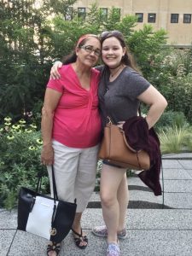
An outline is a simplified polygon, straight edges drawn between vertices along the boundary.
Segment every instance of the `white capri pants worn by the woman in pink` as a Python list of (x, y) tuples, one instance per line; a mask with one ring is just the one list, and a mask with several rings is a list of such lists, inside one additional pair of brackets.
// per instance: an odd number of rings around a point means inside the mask
[[(96, 184), (96, 163), (99, 145), (91, 148), (69, 148), (53, 140), (54, 173), (60, 200), (74, 202), (76, 212), (83, 212)], [(51, 166), (47, 166), (53, 196)]]

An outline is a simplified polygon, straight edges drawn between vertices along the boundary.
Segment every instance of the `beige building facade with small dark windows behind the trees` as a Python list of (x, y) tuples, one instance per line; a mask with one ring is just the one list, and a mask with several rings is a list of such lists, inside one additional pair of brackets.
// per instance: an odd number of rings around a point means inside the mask
[(177, 47), (188, 47), (192, 44), (192, 0), (78, 0), (73, 8), (81, 16), (86, 15), (93, 3), (108, 15), (108, 9), (119, 9), (121, 17), (137, 15), (137, 26), (143, 24), (154, 26), (154, 30), (164, 28), (167, 32), (167, 44)]

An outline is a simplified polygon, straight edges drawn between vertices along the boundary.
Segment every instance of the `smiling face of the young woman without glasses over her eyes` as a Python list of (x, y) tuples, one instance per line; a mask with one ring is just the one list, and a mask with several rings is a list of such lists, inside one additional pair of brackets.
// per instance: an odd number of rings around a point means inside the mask
[(109, 68), (118, 67), (125, 55), (126, 48), (122, 47), (119, 40), (115, 37), (106, 38), (102, 42), (102, 61)]

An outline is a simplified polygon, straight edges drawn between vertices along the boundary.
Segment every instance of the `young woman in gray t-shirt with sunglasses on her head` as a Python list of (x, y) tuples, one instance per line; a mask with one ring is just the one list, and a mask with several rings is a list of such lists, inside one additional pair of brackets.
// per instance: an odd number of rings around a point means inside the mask
[[(99, 101), (102, 127), (108, 116), (114, 124), (123, 125), (125, 120), (137, 116), (140, 102), (149, 106), (146, 121), (148, 129), (154, 126), (166, 108), (164, 96), (137, 72), (125, 45), (122, 33), (118, 31), (102, 33), (102, 61)], [(61, 64), (59, 64), (61, 67)], [(52, 67), (51, 74), (58, 73)], [(103, 160), (100, 196), (102, 214), (106, 226), (92, 230), (96, 236), (108, 237), (107, 256), (119, 256), (119, 239), (125, 239), (125, 216), (129, 201), (126, 169), (112, 166)]]

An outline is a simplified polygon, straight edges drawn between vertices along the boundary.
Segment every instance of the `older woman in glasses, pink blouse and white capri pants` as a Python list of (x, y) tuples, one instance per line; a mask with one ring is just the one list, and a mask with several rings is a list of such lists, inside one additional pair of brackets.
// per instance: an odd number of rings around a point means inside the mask
[[(59, 199), (77, 199), (73, 236), (81, 249), (87, 246), (88, 238), (80, 219), (95, 188), (102, 129), (97, 96), (100, 74), (92, 68), (100, 53), (101, 43), (96, 35), (79, 38), (73, 54), (60, 69), (60, 79), (49, 79), (42, 109), (41, 161), (47, 166), (50, 179), (54, 165)], [(59, 252), (60, 243), (50, 242), (47, 254), (55, 256)]]

